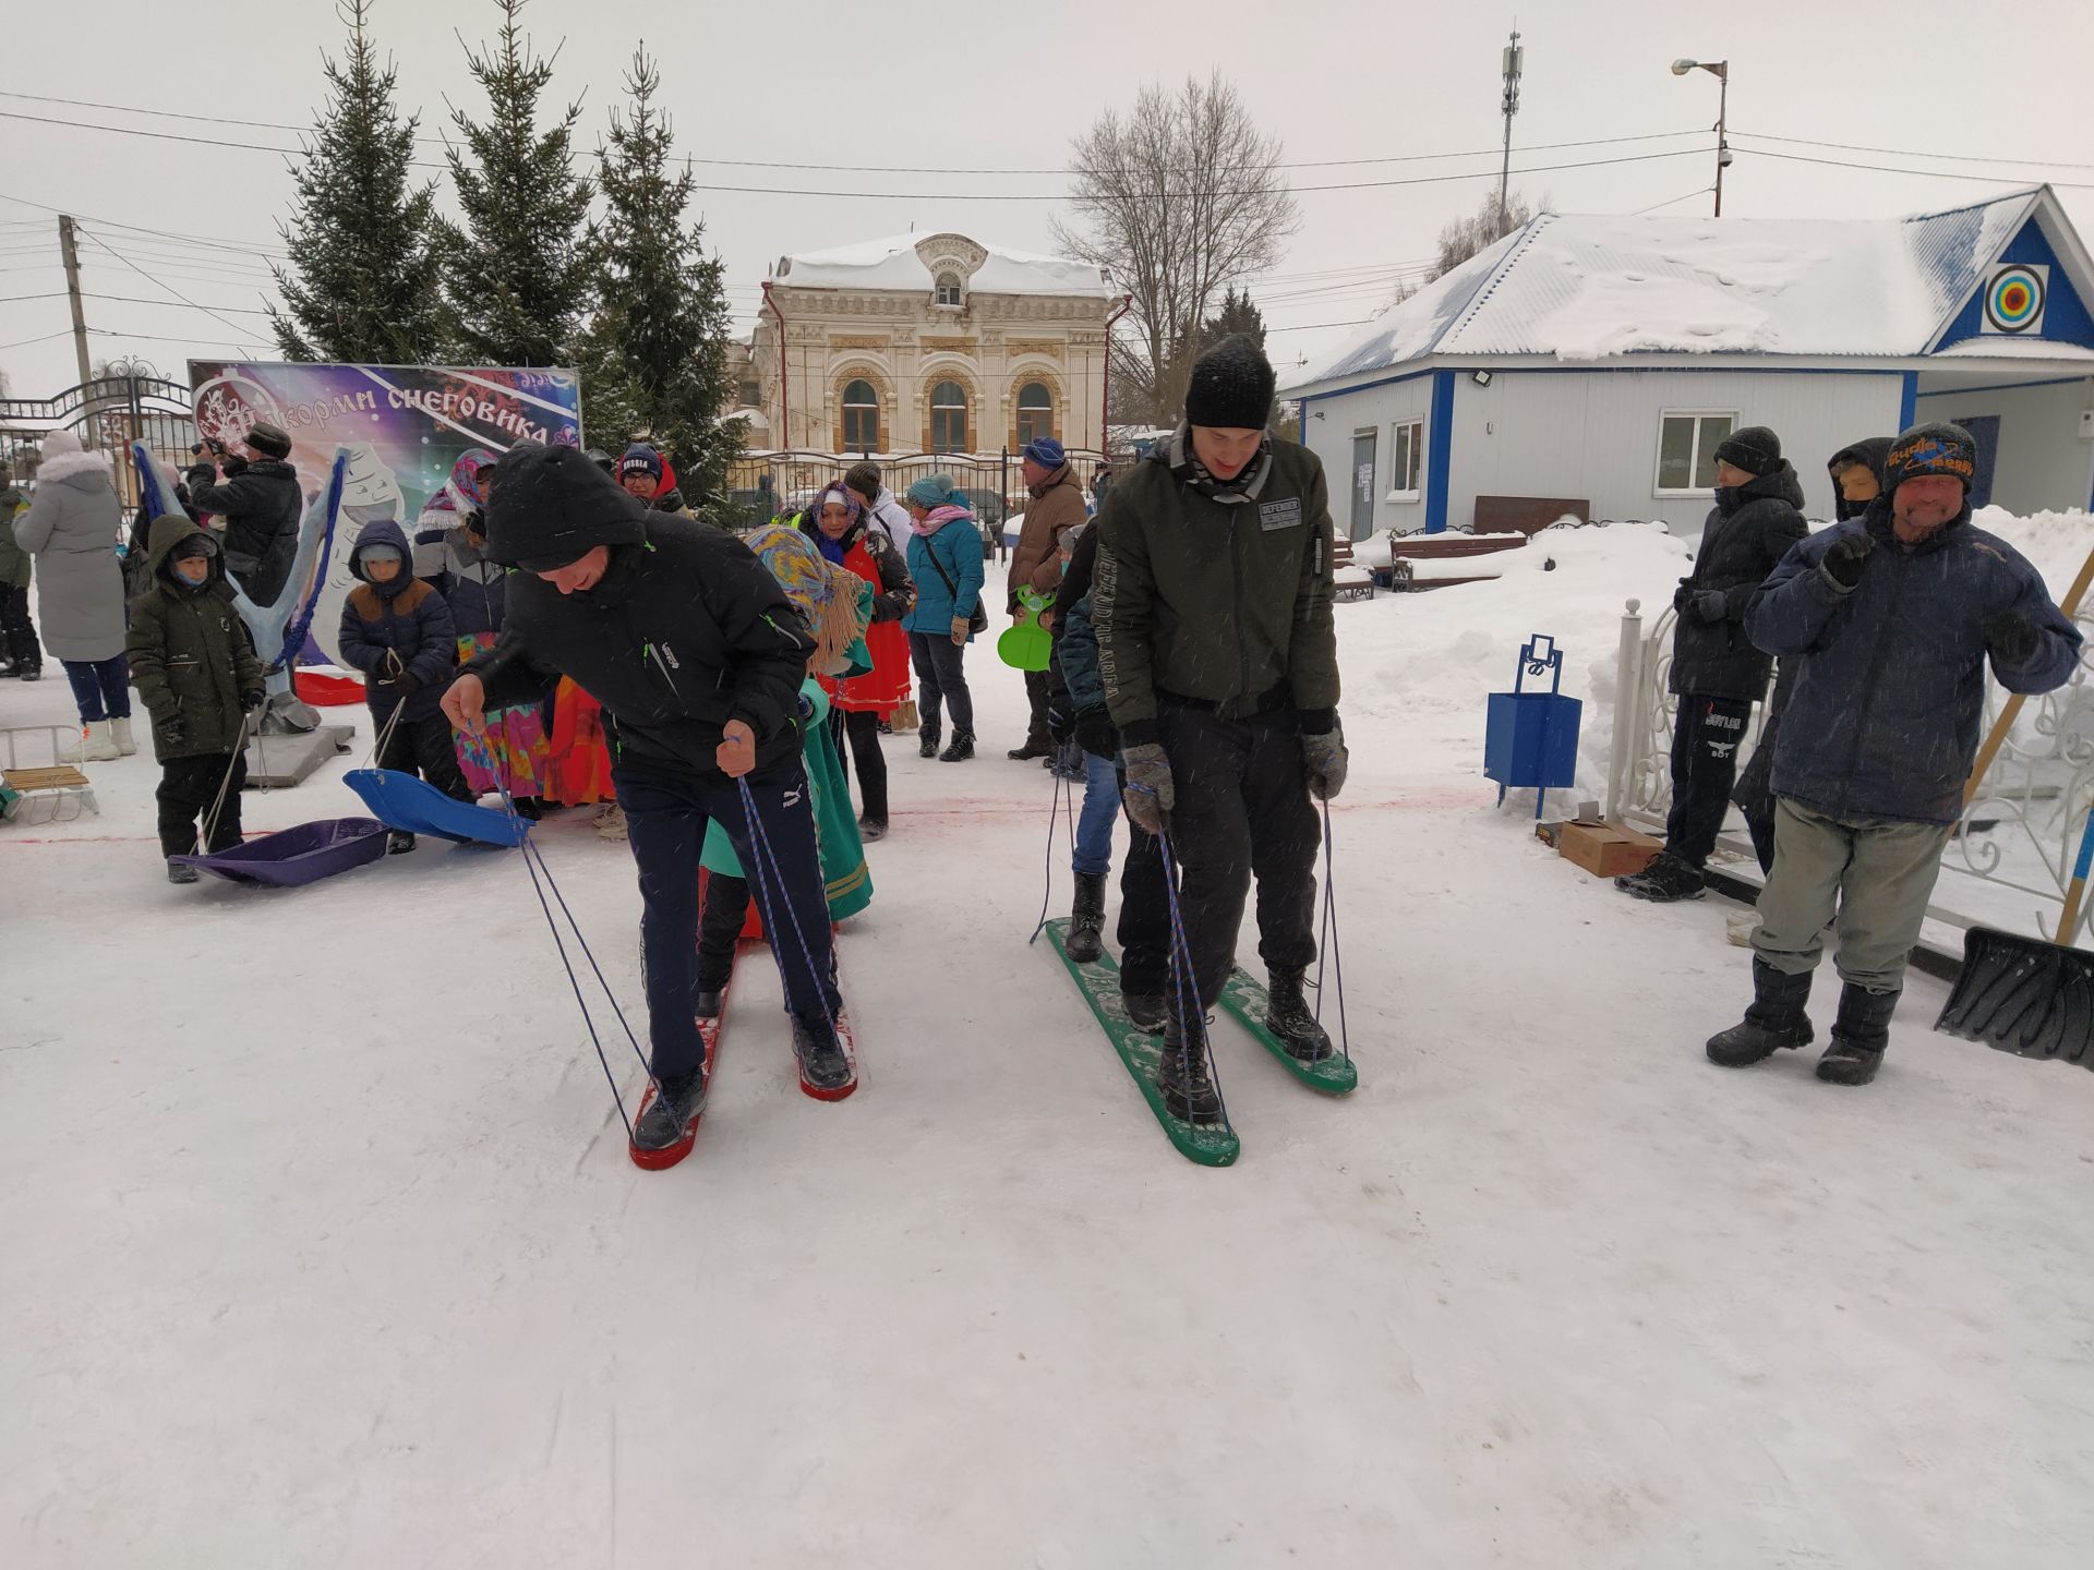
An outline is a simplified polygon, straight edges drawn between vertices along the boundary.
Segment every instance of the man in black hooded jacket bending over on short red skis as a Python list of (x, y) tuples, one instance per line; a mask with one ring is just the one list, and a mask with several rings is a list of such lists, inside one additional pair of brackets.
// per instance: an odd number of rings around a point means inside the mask
[[(641, 871), (655, 1091), (634, 1120), (643, 1166), (689, 1149), (706, 1105), (697, 990), (697, 867), (718, 818), (743, 867), (783, 900), (773, 955), (794, 1051), (815, 1089), (850, 1063), (836, 1034), (836, 944), (800, 762), (800, 685), (815, 638), (777, 578), (725, 530), (651, 513), (570, 446), (519, 444), (494, 469), (488, 559), (519, 567), (494, 649), (444, 695), (461, 731), (488, 703), (549, 691), (559, 676), (603, 703), (611, 777)], [(756, 810), (752, 835), (741, 787)], [(754, 844), (752, 844), (754, 839)], [(760, 848), (758, 848), (760, 846)]]

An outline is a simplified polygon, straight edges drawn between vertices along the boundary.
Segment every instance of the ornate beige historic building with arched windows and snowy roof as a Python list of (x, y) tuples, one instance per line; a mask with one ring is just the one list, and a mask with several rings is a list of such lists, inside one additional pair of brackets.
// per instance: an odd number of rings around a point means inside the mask
[(1106, 322), (1089, 262), (965, 234), (781, 257), (756, 318), (775, 450), (999, 452), (1104, 446)]

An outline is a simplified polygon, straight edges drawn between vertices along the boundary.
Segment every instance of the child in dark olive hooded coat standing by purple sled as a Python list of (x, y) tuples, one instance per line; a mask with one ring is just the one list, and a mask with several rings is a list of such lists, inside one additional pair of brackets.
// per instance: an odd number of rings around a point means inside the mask
[[(262, 661), (232, 609), (218, 542), (191, 519), (153, 519), (140, 582), (126, 655), (153, 716), (159, 854), (197, 850), (199, 814), (203, 850), (218, 854), (241, 842), (243, 749), (247, 714), (262, 708)], [(195, 883), (197, 869), (170, 860), (168, 881)]]

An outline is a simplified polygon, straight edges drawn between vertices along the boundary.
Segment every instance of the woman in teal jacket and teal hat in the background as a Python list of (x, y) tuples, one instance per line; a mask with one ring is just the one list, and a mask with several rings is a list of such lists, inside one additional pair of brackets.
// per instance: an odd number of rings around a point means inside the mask
[[(909, 628), (909, 659), (917, 672), (917, 710), (923, 731), (917, 752), (957, 764), (974, 756), (974, 697), (967, 693), (967, 641), (982, 605), (982, 534), (967, 498), (953, 490), (953, 475), (915, 481), (909, 507), (909, 576), (917, 584)], [(938, 752), (938, 710), (953, 710), (953, 739)]]

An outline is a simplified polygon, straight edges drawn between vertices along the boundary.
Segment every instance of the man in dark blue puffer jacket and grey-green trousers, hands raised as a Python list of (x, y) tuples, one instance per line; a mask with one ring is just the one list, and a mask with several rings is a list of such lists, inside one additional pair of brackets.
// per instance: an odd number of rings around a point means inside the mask
[(1868, 1084), (1891, 1038), (1906, 955), (1962, 812), (1985, 661), (2010, 693), (2063, 687), (2079, 630), (2021, 553), (1970, 523), (1977, 442), (1916, 425), (1885, 494), (1809, 536), (1746, 611), (1753, 643), (1797, 661), (1774, 752), (1774, 871), (1753, 936), (1753, 1005), (1709, 1040), (1742, 1068), (1811, 1038), (1805, 1005), (1839, 913), (1839, 1017), (1818, 1078)]

